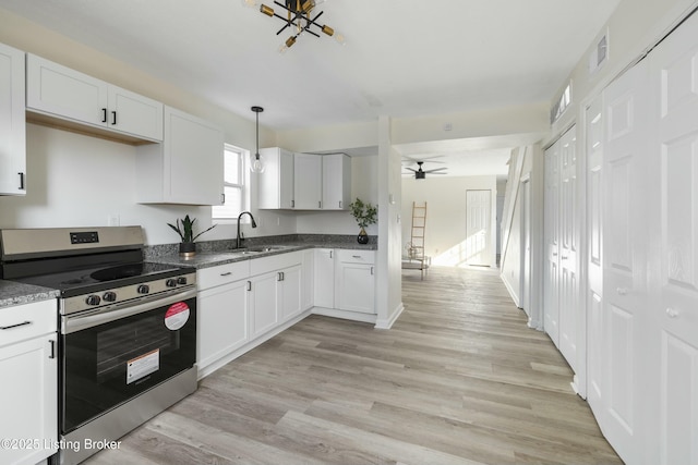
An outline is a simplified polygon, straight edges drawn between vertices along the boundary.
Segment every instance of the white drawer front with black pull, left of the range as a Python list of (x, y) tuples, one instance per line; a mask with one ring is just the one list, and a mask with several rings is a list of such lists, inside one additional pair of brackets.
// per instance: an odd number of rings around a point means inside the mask
[(0, 346), (56, 332), (57, 301), (0, 308)]

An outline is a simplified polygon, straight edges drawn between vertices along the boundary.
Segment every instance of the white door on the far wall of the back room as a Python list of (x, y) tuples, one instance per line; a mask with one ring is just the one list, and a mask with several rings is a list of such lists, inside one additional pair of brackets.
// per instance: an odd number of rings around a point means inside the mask
[(492, 264), (492, 193), (466, 191), (466, 264)]

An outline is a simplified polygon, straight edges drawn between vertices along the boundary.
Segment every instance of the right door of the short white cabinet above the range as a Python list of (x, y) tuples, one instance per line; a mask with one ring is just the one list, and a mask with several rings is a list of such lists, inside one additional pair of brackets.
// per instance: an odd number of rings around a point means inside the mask
[(113, 131), (163, 140), (164, 106), (157, 100), (109, 85), (107, 125)]

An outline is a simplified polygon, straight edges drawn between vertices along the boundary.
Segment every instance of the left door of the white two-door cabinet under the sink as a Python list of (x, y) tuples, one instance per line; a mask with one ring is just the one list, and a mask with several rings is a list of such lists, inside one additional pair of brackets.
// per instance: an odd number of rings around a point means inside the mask
[(277, 282), (280, 280), (279, 272), (273, 271), (250, 279), (250, 338), (270, 331), (279, 320)]

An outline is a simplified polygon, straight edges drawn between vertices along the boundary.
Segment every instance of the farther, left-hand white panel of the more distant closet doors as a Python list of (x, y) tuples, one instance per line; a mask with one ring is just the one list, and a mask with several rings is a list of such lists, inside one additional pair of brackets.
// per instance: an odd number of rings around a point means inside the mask
[(559, 347), (559, 140), (545, 150), (543, 328)]

